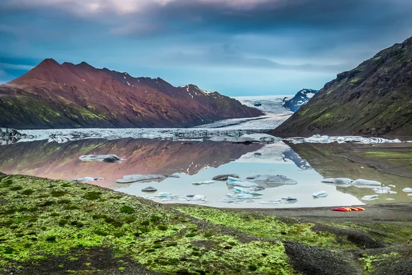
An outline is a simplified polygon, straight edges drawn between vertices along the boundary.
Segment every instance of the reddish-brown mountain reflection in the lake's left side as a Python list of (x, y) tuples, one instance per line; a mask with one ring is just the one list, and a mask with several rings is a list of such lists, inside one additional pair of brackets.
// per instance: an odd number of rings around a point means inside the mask
[[(172, 142), (168, 140), (122, 139), (78, 140), (58, 144), (36, 141), (0, 147), (0, 171), (50, 179), (103, 177), (95, 184), (110, 187), (131, 174), (194, 175), (209, 167), (239, 159), (261, 144), (231, 142)], [(82, 162), (81, 155), (116, 154), (123, 162)]]

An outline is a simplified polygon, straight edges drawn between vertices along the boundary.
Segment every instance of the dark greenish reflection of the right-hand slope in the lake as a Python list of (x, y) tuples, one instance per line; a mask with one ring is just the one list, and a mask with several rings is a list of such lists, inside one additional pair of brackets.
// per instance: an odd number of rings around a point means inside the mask
[[(367, 203), (411, 202), (412, 197), (403, 188), (412, 187), (412, 144), (330, 144), (288, 145), (325, 178), (349, 177), (369, 179), (391, 185), (396, 194), (378, 194), (379, 198)], [(395, 187), (393, 187), (395, 186)], [(337, 190), (361, 199), (376, 195), (374, 186), (336, 186)]]

